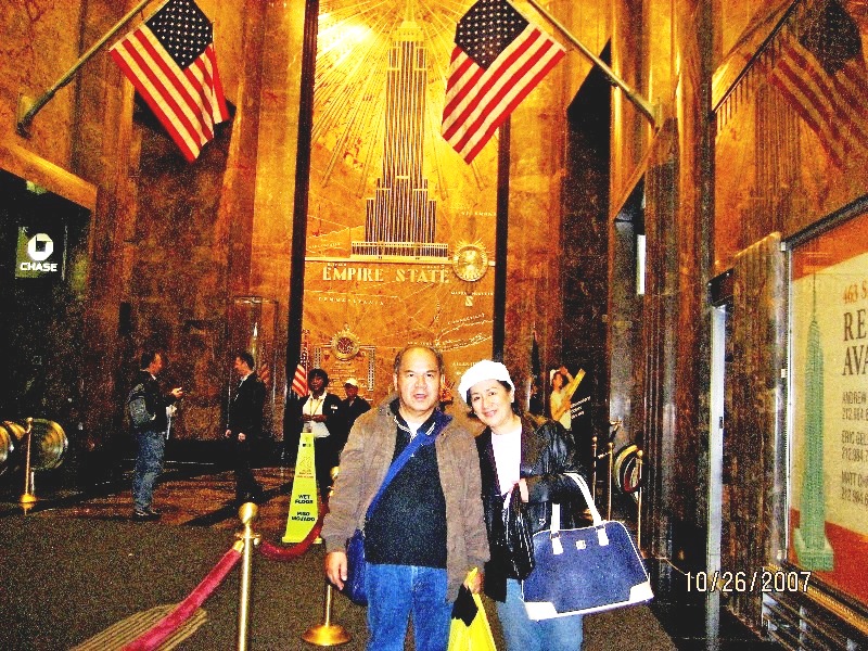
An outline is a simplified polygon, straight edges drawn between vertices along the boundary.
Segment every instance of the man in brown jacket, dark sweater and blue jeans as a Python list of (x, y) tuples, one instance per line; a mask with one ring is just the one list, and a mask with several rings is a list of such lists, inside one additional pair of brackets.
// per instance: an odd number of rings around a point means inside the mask
[[(408, 346), (394, 370), (397, 395), (359, 417), (341, 455), (321, 533), (326, 574), (343, 588), (346, 540), (363, 526), (367, 648), (403, 651), (412, 615), (416, 648), (445, 650), (458, 588), (488, 559), (478, 457), (467, 411), (450, 416), (439, 408), (441, 354)], [(395, 475), (366, 522), (390, 464), (414, 436), (432, 441)], [(478, 590), (478, 584), (469, 587)]]

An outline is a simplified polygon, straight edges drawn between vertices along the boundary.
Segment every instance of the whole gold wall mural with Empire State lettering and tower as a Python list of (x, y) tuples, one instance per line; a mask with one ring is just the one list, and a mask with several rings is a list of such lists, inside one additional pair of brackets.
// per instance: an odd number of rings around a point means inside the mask
[(374, 401), (408, 343), (449, 383), (492, 355), (497, 146), (468, 165), (441, 135), (464, 10), (320, 2), (302, 322), (332, 385)]

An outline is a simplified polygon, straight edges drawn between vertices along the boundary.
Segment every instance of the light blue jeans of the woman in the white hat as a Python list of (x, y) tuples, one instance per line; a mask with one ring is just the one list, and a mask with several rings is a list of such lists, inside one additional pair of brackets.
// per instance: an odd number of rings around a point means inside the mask
[(582, 649), (582, 615), (534, 622), (522, 601), (522, 586), (507, 579), (507, 600), (497, 602), (497, 618), (503, 629), (507, 651), (578, 651)]

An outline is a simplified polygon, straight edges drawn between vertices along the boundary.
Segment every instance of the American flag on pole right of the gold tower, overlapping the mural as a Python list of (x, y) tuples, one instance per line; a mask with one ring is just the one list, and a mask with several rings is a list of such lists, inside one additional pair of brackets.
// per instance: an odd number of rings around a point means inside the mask
[(564, 54), (508, 0), (478, 0), (456, 29), (443, 137), (465, 162), (473, 161)]

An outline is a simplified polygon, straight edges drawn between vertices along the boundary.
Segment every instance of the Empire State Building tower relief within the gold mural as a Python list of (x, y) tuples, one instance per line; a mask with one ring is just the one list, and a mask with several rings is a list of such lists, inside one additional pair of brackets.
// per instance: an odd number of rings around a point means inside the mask
[(388, 52), (383, 176), (366, 202), (365, 241), (353, 242), (354, 256), (448, 255), (436, 242), (437, 204), (422, 175), (426, 87), (427, 49), (408, 17)]

